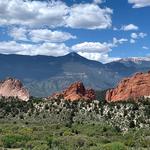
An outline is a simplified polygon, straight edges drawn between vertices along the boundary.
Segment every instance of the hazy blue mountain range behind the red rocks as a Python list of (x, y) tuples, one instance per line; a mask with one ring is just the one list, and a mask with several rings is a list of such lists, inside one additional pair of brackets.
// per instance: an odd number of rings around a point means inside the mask
[(60, 57), (0, 54), (0, 79), (18, 78), (31, 95), (39, 97), (63, 90), (75, 81), (95, 90), (108, 89), (123, 77), (148, 70), (149, 58), (126, 58), (102, 64), (74, 52)]

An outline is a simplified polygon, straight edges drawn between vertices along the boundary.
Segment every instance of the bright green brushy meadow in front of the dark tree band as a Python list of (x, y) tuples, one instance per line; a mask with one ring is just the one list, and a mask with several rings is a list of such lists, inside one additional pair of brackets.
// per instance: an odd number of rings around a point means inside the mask
[(147, 150), (150, 130), (120, 132), (102, 123), (49, 124), (0, 122), (0, 149)]

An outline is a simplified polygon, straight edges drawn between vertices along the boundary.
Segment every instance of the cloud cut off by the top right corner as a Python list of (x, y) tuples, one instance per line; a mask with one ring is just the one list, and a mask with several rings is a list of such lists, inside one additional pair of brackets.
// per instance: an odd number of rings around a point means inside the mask
[(150, 0), (128, 0), (128, 2), (133, 4), (133, 8), (150, 6)]

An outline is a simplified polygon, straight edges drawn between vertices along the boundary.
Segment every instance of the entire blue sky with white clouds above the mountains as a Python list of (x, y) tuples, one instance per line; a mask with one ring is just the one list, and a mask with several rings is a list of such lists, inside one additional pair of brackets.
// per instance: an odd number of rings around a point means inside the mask
[(0, 53), (148, 57), (149, 14), (150, 0), (0, 0)]

